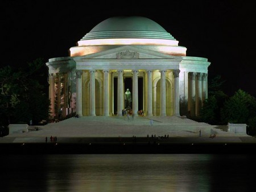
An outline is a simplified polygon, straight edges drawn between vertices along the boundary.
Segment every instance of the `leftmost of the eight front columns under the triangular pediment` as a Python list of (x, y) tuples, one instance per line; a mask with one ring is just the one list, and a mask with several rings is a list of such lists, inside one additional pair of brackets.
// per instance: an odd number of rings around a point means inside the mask
[(76, 70), (76, 114), (82, 116), (82, 70)]

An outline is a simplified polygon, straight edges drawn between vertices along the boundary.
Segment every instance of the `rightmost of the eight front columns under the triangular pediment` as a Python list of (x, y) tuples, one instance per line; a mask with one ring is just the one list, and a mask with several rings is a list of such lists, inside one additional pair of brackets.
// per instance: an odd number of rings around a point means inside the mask
[(174, 73), (174, 115), (180, 116), (180, 70), (176, 69), (172, 71)]

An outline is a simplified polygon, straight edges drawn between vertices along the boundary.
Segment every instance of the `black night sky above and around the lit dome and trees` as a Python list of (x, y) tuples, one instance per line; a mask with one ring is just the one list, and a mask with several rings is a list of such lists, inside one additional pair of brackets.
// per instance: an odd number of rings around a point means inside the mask
[(102, 20), (145, 16), (187, 47), (187, 56), (208, 58), (209, 80), (220, 75), (225, 93), (242, 89), (256, 96), (255, 1), (159, 2), (3, 0), (0, 66), (69, 56), (69, 48)]

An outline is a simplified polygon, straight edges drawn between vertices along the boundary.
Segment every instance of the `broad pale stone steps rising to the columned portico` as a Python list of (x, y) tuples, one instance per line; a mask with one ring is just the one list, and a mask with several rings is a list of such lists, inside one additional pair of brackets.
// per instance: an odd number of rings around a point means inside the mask
[[(150, 125), (150, 119), (154, 121)], [(14, 133), (0, 138), (4, 141), (20, 141), (20, 137), (27, 137), (27, 140), (35, 141), (37, 137), (44, 140), (45, 137), (57, 136), (59, 138), (82, 138), (82, 137), (146, 137), (147, 135), (170, 137), (201, 137), (209, 140), (210, 134), (216, 137), (250, 137), (245, 133), (226, 132), (220, 126), (211, 126), (207, 123), (196, 122), (191, 119), (183, 119), (177, 116), (136, 116), (128, 119), (127, 116), (82, 116), (80, 118), (69, 118), (57, 123), (49, 123), (45, 126), (38, 126), (38, 131)], [(30, 138), (30, 139), (29, 139)], [(203, 139), (203, 138), (202, 138)], [(24, 139), (23, 139), (24, 140)], [(216, 140), (214, 140), (216, 141)]]

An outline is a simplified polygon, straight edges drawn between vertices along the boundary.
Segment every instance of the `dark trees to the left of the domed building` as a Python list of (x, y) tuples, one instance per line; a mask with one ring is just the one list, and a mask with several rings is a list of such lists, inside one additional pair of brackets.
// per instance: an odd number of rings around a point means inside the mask
[(15, 123), (37, 124), (49, 116), (47, 70), (42, 58), (26, 66), (0, 69), (1, 128)]

